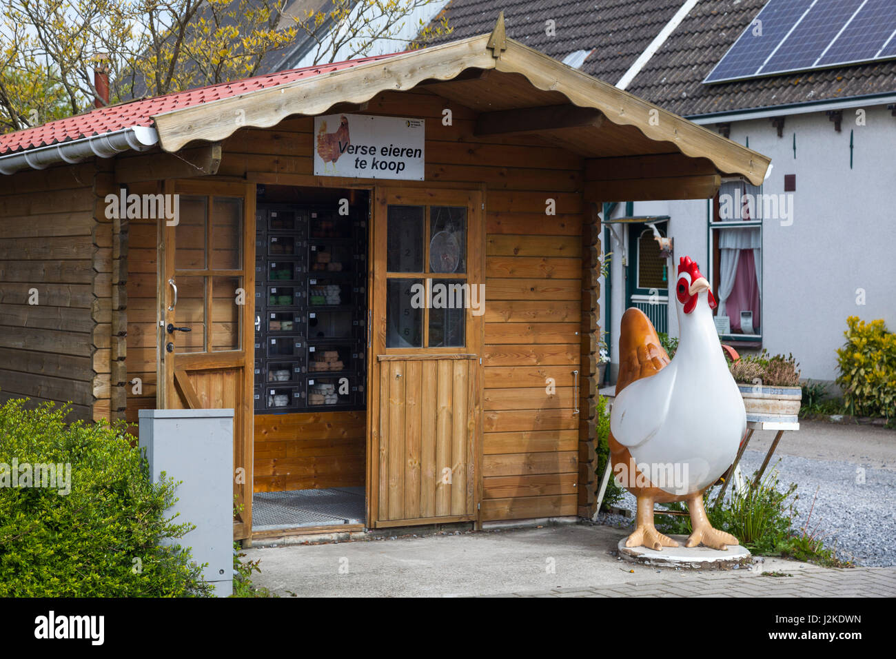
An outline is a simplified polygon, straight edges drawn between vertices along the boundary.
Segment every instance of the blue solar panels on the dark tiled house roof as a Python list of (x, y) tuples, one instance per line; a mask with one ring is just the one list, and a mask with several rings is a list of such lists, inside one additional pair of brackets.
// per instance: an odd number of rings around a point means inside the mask
[(892, 57), (894, 0), (769, 0), (703, 82)]

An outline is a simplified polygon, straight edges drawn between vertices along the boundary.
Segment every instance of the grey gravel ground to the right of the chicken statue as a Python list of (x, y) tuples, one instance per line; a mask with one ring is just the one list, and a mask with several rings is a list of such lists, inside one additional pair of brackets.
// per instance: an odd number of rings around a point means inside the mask
[[(762, 464), (764, 451), (747, 450), (741, 460), (745, 474), (754, 473)], [(780, 484), (797, 483), (797, 527), (806, 525), (815, 490), (809, 530), (817, 525), (825, 544), (834, 546), (841, 559), (857, 565), (889, 567), (896, 565), (896, 471), (875, 469), (861, 463), (818, 460), (798, 455), (776, 455), (772, 466)], [(865, 482), (857, 469), (862, 467)], [(634, 510), (634, 497), (624, 493), (616, 506)], [(599, 523), (626, 528), (632, 517), (601, 513)]]

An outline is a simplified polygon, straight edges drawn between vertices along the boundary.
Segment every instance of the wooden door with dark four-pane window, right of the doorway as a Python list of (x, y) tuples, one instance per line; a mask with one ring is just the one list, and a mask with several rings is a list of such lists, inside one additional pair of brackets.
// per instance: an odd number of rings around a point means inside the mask
[(367, 408), (372, 527), (478, 520), (483, 218), (478, 191), (376, 191)]

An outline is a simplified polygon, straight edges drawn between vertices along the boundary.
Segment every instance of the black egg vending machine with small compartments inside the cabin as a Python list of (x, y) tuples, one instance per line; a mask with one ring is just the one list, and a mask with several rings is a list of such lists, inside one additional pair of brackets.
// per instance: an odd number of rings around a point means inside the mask
[(363, 408), (366, 210), (259, 204), (255, 247), (255, 411)]

